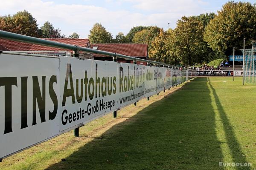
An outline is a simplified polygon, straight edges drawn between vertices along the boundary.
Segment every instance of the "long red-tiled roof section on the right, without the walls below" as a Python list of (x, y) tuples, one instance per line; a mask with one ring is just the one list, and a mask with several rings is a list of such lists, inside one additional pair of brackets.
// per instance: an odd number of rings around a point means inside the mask
[[(115, 52), (131, 57), (146, 58), (148, 57), (147, 44), (125, 44), (125, 43), (108, 43), (108, 44), (91, 44), (91, 48), (98, 46), (98, 50)], [(93, 54), (94, 57), (109, 57), (107, 55)]]

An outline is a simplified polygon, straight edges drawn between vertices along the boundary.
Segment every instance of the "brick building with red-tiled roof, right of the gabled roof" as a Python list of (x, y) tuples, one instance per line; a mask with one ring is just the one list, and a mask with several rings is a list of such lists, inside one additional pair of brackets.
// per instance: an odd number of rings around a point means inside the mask
[[(128, 43), (104, 43), (104, 44), (90, 44), (92, 49), (114, 52), (121, 55), (128, 55), (131, 57), (148, 59), (148, 45), (147, 44), (128, 44)], [(113, 58), (108, 55), (93, 54), (95, 60), (113, 61)], [(125, 63), (133, 63), (131, 60), (118, 58), (117, 61)], [(140, 62), (139, 64), (146, 64)]]

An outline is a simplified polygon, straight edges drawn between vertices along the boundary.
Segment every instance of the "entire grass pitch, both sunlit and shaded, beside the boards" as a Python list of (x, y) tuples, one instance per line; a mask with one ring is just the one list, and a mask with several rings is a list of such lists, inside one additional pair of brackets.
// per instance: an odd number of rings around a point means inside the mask
[(253, 170), (255, 92), (241, 78), (195, 78), (122, 109), (116, 119), (110, 114), (90, 122), (79, 138), (65, 133), (6, 158), (0, 169)]

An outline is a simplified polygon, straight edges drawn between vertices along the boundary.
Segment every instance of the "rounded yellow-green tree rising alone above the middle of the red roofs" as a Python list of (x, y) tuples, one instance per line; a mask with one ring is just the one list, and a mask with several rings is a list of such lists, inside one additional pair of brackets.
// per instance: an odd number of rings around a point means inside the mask
[(100, 23), (93, 25), (88, 35), (90, 43), (111, 43), (112, 35)]

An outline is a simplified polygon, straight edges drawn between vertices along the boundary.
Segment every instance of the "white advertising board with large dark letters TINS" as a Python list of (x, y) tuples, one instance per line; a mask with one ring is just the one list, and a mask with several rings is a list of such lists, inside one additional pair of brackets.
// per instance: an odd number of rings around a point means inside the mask
[(59, 134), (59, 59), (0, 54), (0, 158)]

